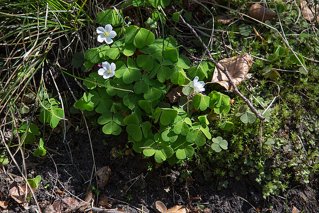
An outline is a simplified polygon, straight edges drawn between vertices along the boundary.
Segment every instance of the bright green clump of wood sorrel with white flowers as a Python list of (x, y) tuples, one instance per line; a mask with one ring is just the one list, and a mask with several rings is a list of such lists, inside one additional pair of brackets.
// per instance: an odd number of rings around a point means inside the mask
[[(122, 23), (117, 13), (107, 10), (97, 16), (101, 25), (109, 24), (101, 18), (105, 14), (115, 17), (109, 20), (114, 26)], [(173, 37), (156, 39), (152, 31), (134, 25), (114, 30), (111, 25), (98, 28), (98, 40), (110, 45), (86, 51), (84, 66), (100, 63), (102, 68), (85, 79), (83, 84), (89, 92), (74, 106), (100, 114), (98, 123), (105, 134), (119, 135), (125, 127), (134, 150), (154, 156), (158, 163), (178, 163), (191, 157), (195, 146), (213, 145), (212, 149), (220, 152), (217, 144), (227, 149), (225, 140), (222, 144), (212, 141), (207, 117), (227, 115), (230, 98), (216, 91), (208, 96), (201, 93), (208, 63), (190, 67), (190, 60), (179, 54)], [(118, 37), (113, 36), (115, 32)], [(114, 40), (111, 42), (108, 36)], [(170, 103), (165, 95), (177, 87), (182, 88), (184, 96), (178, 97), (177, 104)], [(194, 89), (198, 93), (194, 94)], [(226, 121), (221, 129), (232, 127)]]

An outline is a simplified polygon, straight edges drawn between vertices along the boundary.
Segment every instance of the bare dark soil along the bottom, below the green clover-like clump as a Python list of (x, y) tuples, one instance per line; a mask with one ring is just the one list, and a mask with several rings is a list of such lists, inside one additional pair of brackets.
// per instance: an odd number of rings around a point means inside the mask
[[(50, 202), (53, 203), (65, 197), (78, 196), (84, 200), (92, 174), (93, 157), (88, 134), (83, 129), (76, 132), (71, 127), (64, 143), (61, 134), (52, 135), (49, 143), (46, 144), (50, 155), (34, 157), (31, 153), (34, 147), (27, 147), (30, 151), (25, 154), (28, 178), (34, 178), (37, 175), (42, 177), (35, 195), (43, 208)], [(178, 180), (180, 174), (184, 172), (179, 166), (169, 166), (164, 163), (158, 169), (153, 167), (152, 171), (148, 171), (149, 163), (154, 163), (154, 160), (145, 159), (141, 154), (114, 158), (111, 154), (112, 148), (122, 149), (125, 152), (127, 150), (125, 147), (127, 145), (130, 147), (124, 133), (107, 137), (93, 130), (91, 140), (96, 167), (109, 166), (112, 171), (110, 180), (99, 193), (99, 197), (93, 191), (95, 202), (101, 195), (106, 195), (119, 200), (114, 208), (128, 213), (140, 212), (135, 208), (154, 213), (153, 204), (156, 201), (162, 201), (168, 208), (174, 205), (187, 206), (189, 201), (193, 207), (203, 205), (212, 213), (254, 213), (256, 211), (292, 213), (293, 207), (304, 213), (319, 212), (318, 192), (308, 186), (297, 186), (280, 196), (270, 196), (264, 200), (261, 187), (256, 186), (255, 181), (249, 180), (249, 177), (240, 181), (229, 180), (227, 189), (218, 191), (215, 189), (214, 182), (204, 181), (203, 175), (194, 171), (193, 181), (188, 182), (187, 187), (185, 182), (180, 183)], [(106, 145), (102, 141), (105, 141)], [(16, 160), (21, 164), (21, 158), (18, 155)], [(19, 176), (13, 164), (9, 166), (8, 173)], [(8, 180), (10, 180), (9, 176), (1, 173), (2, 201), (8, 198)], [(317, 187), (317, 184), (313, 183), (313, 187)], [(48, 187), (44, 189), (46, 185)], [(96, 186), (94, 177), (91, 185)], [(63, 196), (58, 193), (58, 190), (64, 192)], [(272, 203), (274, 208), (268, 209), (268, 203)], [(12, 201), (9, 212), (35, 212), (33, 199), (29, 206), (32, 208), (27, 211)]]

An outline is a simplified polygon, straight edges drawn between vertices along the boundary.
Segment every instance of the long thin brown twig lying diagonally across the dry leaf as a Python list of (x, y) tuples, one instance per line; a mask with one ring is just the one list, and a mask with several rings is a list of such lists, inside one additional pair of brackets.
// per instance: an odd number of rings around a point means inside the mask
[[(172, 7), (175, 11), (177, 11), (174, 6), (171, 6), (171, 7)], [(262, 116), (262, 115), (257, 111), (257, 109), (250, 103), (250, 101), (249, 101), (243, 94), (241, 94), (241, 92), (238, 90), (238, 88), (237, 88), (237, 86), (235, 85), (233, 79), (232, 79), (231, 76), (229, 75), (227, 68), (226, 68), (226, 67), (222, 67), (220, 64), (218, 64), (218, 63), (213, 59), (213, 57), (212, 57), (212, 55), (211, 55), (209, 49), (207, 48), (206, 44), (202, 41), (202, 39), (199, 37), (199, 35), (197, 34), (197, 32), (194, 30), (194, 28), (191, 27), (191, 26), (184, 20), (184, 18), (183, 18), (181, 15), (179, 15), (179, 18), (180, 18), (180, 20), (190, 29), (190, 31), (191, 31), (191, 32), (193, 33), (193, 35), (198, 39), (198, 41), (200, 42), (200, 44), (206, 49), (206, 52), (207, 52), (207, 54), (208, 54), (208, 57), (209, 57), (210, 61), (211, 61), (213, 64), (215, 64), (215, 66), (217, 67), (217, 69), (219, 69), (221, 72), (223, 72), (223, 73), (227, 76), (227, 78), (228, 78), (229, 82), (231, 83), (231, 85), (233, 86), (235, 92), (241, 97), (241, 99), (243, 99), (243, 100), (246, 102), (246, 104), (248, 105), (248, 107), (253, 111), (253, 113), (257, 116), (257, 118), (259, 118), (261, 121), (264, 121), (264, 120), (265, 120), (265, 117)]]

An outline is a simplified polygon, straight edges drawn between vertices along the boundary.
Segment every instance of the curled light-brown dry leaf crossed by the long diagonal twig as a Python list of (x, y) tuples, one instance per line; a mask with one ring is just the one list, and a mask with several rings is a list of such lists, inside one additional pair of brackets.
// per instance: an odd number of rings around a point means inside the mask
[[(245, 55), (238, 55), (231, 58), (222, 59), (218, 62), (222, 67), (226, 67), (229, 75), (232, 77), (236, 86), (238, 86), (246, 77), (251, 65), (253, 64), (253, 57), (246, 53)], [(227, 90), (233, 90), (231, 83), (227, 76), (215, 67), (212, 83), (219, 83)]]

